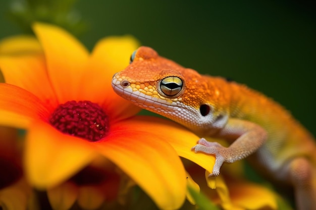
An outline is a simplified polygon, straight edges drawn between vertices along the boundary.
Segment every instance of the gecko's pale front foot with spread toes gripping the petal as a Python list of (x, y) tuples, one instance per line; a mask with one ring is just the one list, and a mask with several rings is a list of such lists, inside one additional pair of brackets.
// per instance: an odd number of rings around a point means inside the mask
[(195, 153), (202, 152), (205, 154), (215, 155), (215, 164), (212, 173), (208, 176), (220, 175), (220, 169), (224, 162), (228, 159), (228, 149), (217, 142), (208, 142), (205, 138), (199, 139), (197, 145), (192, 147)]

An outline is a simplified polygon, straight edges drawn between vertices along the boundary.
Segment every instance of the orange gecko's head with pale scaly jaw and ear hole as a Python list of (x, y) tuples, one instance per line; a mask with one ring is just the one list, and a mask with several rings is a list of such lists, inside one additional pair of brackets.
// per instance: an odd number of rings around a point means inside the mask
[(223, 127), (227, 121), (226, 114), (207, 101), (209, 94), (218, 93), (209, 89), (204, 76), (159, 56), (149, 47), (132, 53), (130, 65), (113, 76), (112, 86), (118, 95), (135, 105), (197, 133)]

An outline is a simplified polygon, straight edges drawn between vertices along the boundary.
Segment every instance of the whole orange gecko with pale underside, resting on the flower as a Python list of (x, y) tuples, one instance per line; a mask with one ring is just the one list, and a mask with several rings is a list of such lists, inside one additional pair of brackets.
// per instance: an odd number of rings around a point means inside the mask
[[(112, 87), (200, 136), (192, 150), (215, 156), (209, 176), (218, 176), (224, 163), (247, 158), (264, 175), (294, 188), (297, 209), (316, 209), (315, 139), (273, 99), (223, 77), (200, 75), (146, 46), (132, 53)], [(207, 136), (230, 145), (208, 142)]]

